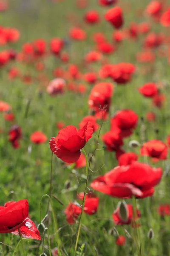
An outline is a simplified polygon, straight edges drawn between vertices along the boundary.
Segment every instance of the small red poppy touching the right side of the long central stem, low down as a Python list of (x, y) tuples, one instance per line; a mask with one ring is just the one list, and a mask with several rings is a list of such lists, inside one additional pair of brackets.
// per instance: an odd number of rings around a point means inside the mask
[(88, 215), (93, 215), (96, 213), (99, 205), (99, 198), (88, 198), (85, 199), (84, 212)]

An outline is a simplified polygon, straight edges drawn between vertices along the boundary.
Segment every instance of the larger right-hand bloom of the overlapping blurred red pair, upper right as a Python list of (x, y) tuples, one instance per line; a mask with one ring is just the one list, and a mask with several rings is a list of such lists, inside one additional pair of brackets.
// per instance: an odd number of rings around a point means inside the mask
[(111, 78), (118, 84), (126, 84), (131, 80), (135, 66), (131, 63), (119, 63), (112, 66)]

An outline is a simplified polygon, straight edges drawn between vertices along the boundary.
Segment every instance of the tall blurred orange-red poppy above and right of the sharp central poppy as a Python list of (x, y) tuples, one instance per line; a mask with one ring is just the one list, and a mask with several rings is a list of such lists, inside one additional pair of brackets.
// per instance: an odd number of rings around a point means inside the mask
[(105, 119), (111, 104), (113, 84), (101, 82), (96, 84), (89, 95), (88, 106), (95, 112), (99, 119)]

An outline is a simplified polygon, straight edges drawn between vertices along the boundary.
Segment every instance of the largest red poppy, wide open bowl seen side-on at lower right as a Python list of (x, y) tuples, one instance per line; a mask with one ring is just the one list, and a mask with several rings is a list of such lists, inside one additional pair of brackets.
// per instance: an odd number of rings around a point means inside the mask
[(117, 166), (91, 182), (99, 192), (117, 198), (144, 198), (153, 195), (162, 176), (161, 168), (153, 169), (145, 163), (133, 162), (129, 166)]

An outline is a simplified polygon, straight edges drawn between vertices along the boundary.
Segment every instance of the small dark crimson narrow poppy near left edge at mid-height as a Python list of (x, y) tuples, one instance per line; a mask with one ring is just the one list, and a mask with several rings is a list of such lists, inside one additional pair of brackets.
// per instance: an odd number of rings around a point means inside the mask
[(18, 140), (21, 138), (21, 128), (17, 125), (12, 125), (8, 131), (8, 140), (11, 142), (13, 148), (19, 148)]

